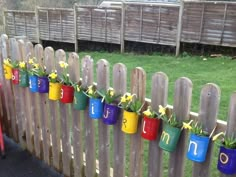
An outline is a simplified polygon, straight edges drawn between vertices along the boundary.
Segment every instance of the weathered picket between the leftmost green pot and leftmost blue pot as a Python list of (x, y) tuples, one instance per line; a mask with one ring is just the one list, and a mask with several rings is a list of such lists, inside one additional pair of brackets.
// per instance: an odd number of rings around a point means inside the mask
[[(29, 58), (31, 58), (34, 55), (34, 46), (31, 42), (26, 43), (26, 56), (23, 58), (25, 62), (28, 61)], [(30, 99), (30, 91), (28, 88), (24, 88), (23, 94), (25, 94), (25, 111), (26, 111), (26, 144), (27, 144), (27, 149), (33, 153), (34, 152), (34, 141), (33, 141), (33, 115), (32, 115), (32, 109), (33, 109), (33, 104)]]

